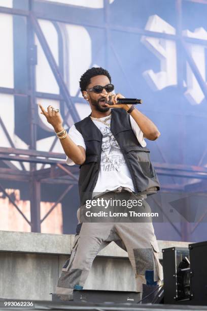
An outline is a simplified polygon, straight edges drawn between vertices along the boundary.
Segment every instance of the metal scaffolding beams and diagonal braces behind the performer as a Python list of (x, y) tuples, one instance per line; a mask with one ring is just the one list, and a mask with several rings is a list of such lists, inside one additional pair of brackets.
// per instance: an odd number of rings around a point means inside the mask
[[(47, 43), (47, 40), (43, 34), (43, 31), (40, 27), (38, 19), (45, 19), (52, 22), (62, 22), (62, 23), (73, 23), (77, 25), (85, 25), (91, 26), (95, 28), (100, 28), (105, 31), (105, 44), (106, 44), (106, 64), (108, 61), (108, 53), (109, 48), (112, 49), (115, 58), (118, 61), (118, 64), (124, 73), (124, 69), (122, 68), (121, 61), (114, 49), (113, 42), (110, 37), (110, 30), (116, 30), (117, 32), (123, 33), (134, 33), (140, 34), (155, 38), (164, 38), (168, 40), (173, 40), (176, 44), (182, 47), (183, 55), (186, 57), (189, 66), (194, 73), (204, 96), (207, 98), (207, 86), (205, 81), (203, 81), (202, 76), (200, 75), (194, 60), (188, 49), (186, 47), (186, 43), (194, 43), (199, 45), (207, 46), (207, 41), (187, 38), (182, 35), (182, 3), (185, 1), (188, 2), (196, 2), (207, 5), (206, 0), (175, 0), (176, 1), (176, 11), (177, 11), (177, 33), (176, 35), (169, 35), (165, 33), (157, 33), (151, 32), (148, 30), (136, 28), (136, 27), (123, 27), (121, 25), (112, 25), (109, 21), (109, 0), (104, 0), (104, 12), (105, 12), (105, 24), (103, 26), (97, 25), (93, 21), (82, 21), (77, 22), (71, 20), (67, 15), (61, 15), (58, 11), (51, 12), (47, 11), (38, 11), (34, 7), (34, 4), (37, 2), (36, 0), (28, 0), (28, 10), (15, 9), (15, 8), (6, 8), (0, 7), (0, 13), (24, 16), (27, 20), (27, 55), (28, 55), (28, 89), (27, 91), (22, 91), (15, 88), (7, 88), (1, 87), (0, 85), (0, 93), (2, 94), (10, 94), (14, 96), (21, 96), (26, 98), (29, 106), (29, 125), (30, 125), (30, 133), (29, 133), (29, 150), (17, 149), (15, 148), (14, 142), (12, 141), (6, 125), (3, 123), (3, 120), (0, 117), (0, 125), (3, 128), (3, 131), (8, 138), (11, 148), (0, 147), (0, 161), (3, 161), (7, 168), (0, 167), (0, 179), (1, 180), (16, 180), (23, 181), (29, 183), (29, 193), (30, 193), (30, 213), (31, 213), (31, 221), (29, 222), (25, 215), (18, 208), (14, 200), (11, 196), (7, 194), (3, 185), (0, 184), (0, 191), (4, 193), (10, 200), (10, 202), (14, 205), (14, 207), (21, 213), (22, 217), (24, 217), (25, 221), (31, 226), (31, 232), (41, 232), (41, 223), (46, 219), (46, 217), (50, 214), (50, 212), (55, 208), (55, 206), (61, 202), (63, 197), (73, 188), (74, 184), (77, 184), (79, 168), (78, 166), (68, 167), (65, 165), (65, 155), (63, 153), (55, 153), (53, 152), (53, 147), (57, 141), (57, 137), (54, 136), (54, 141), (52, 146), (48, 152), (38, 151), (36, 147), (37, 142), (37, 120), (34, 117), (37, 114), (37, 105), (36, 98), (50, 99), (50, 100), (58, 100), (60, 102), (64, 102), (67, 107), (67, 112), (62, 115), (64, 125), (67, 125), (67, 118), (71, 116), (74, 122), (79, 120), (78, 112), (75, 108), (74, 103), (78, 100), (78, 102), (84, 102), (81, 98), (77, 96), (71, 96), (68, 88), (64, 82), (62, 72), (56, 61), (53, 57), (53, 54), (50, 50), (50, 47)], [(38, 0), (38, 3), (41, 3), (41, 0)], [(43, 2), (44, 3), (44, 2)], [(50, 3), (44, 3), (48, 7), (51, 5)], [(36, 83), (35, 83), (35, 66), (37, 64), (37, 48), (34, 44), (34, 34), (37, 35), (39, 42), (42, 46), (42, 49), (47, 57), (50, 68), (54, 74), (56, 82), (60, 89), (60, 94), (48, 94), (44, 92), (36, 91)], [(180, 60), (182, 61), (182, 60)], [(127, 75), (125, 75), (126, 80), (128, 80)], [(182, 81), (179, 81), (180, 86), (182, 85)], [(160, 152), (162, 152), (160, 150)], [(199, 165), (198, 166), (187, 166), (187, 165), (176, 165), (176, 164), (168, 164), (168, 163), (154, 163), (154, 167), (158, 173), (158, 175), (163, 176), (172, 176), (172, 177), (185, 177), (185, 178), (195, 178), (201, 180), (199, 182), (199, 189), (201, 187), (203, 189), (207, 189), (207, 168), (200, 166), (202, 164), (202, 159), (204, 158), (207, 149), (203, 153)], [(163, 155), (163, 154), (162, 154)], [(164, 155), (162, 157), (164, 159)], [(22, 170), (18, 170), (14, 165), (12, 165), (11, 161), (17, 161), (20, 163)], [(26, 171), (24, 167), (24, 162), (28, 162), (30, 165), (30, 170)], [(37, 164), (42, 164), (42, 168), (37, 170)], [(50, 164), (50, 168), (45, 168), (46, 164)], [(40, 202), (41, 202), (41, 184), (42, 183), (54, 183), (54, 184), (66, 184), (67, 188), (63, 191), (63, 193), (57, 198), (54, 205), (48, 211), (48, 213), (44, 216), (43, 219), (40, 217)], [(166, 191), (177, 191), (179, 190), (181, 185), (171, 183), (162, 185), (162, 189)], [(158, 203), (157, 203), (158, 204)], [(197, 225), (195, 225), (196, 228)], [(195, 228), (193, 230), (195, 230)], [(182, 235), (181, 232), (179, 232)]]

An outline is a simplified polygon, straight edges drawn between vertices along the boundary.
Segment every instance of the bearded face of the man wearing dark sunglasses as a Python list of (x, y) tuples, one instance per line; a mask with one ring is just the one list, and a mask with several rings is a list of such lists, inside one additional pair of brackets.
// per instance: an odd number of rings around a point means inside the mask
[[(105, 86), (107, 84), (110, 84), (109, 78), (107, 76), (102, 76), (102, 75), (101, 76), (95, 76), (95, 77), (92, 77), (90, 79), (90, 84), (87, 86), (87, 88), (91, 88), (95, 85)], [(91, 92), (88, 91), (87, 93), (88, 93), (89, 103), (92, 106), (91, 109), (95, 109), (99, 112), (109, 111), (110, 108), (106, 106), (105, 98), (102, 95), (97, 94), (93, 91), (91, 91)], [(106, 89), (103, 89), (102, 93), (106, 94), (106, 95), (108, 94)], [(112, 92), (109, 94), (112, 94)], [(101, 101), (103, 99), (104, 99), (104, 101)]]

